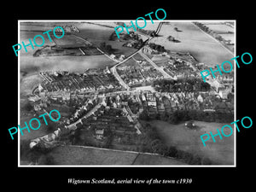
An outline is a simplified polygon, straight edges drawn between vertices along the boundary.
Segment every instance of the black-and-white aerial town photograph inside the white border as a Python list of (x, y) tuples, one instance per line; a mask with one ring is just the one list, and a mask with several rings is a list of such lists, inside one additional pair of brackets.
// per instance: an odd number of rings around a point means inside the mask
[(19, 52), (19, 125), (61, 114), (19, 133), (19, 166), (234, 166), (234, 134), (201, 141), (234, 121), (234, 70), (200, 72), (235, 57), (236, 20), (148, 20), (119, 38), (131, 20), (18, 23), (24, 44), (65, 32)]

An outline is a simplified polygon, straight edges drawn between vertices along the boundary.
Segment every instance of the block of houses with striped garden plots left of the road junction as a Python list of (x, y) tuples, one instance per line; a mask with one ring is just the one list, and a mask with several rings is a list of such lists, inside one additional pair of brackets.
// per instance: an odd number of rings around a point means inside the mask
[(73, 96), (96, 92), (121, 90), (118, 80), (113, 74), (102, 71), (102, 73), (63, 73), (42, 72), (44, 79), (38, 85), (39, 95), (51, 98), (62, 98), (69, 100)]

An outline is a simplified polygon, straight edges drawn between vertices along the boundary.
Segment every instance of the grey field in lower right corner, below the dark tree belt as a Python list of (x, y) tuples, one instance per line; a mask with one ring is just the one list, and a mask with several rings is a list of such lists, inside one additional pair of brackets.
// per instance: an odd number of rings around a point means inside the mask
[[(201, 135), (209, 133), (217, 133), (216, 129), (221, 128), (224, 123), (208, 123), (203, 121), (195, 121), (195, 125), (199, 128), (189, 130), (184, 123), (172, 125), (164, 121), (154, 120), (150, 122), (157, 128), (160, 137), (167, 146), (174, 146), (180, 150), (187, 151), (192, 154), (198, 154), (201, 157), (207, 157), (217, 165), (233, 165), (234, 164), (234, 135), (230, 137), (215, 137), (216, 143), (212, 138), (206, 142), (206, 147), (201, 142)], [(224, 130), (226, 135), (230, 134), (229, 130)]]

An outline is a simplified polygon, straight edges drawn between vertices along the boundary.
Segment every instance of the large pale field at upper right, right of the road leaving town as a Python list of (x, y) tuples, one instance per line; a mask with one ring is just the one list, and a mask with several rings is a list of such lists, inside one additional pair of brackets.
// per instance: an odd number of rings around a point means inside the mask
[[(182, 32), (176, 32), (174, 27)], [(169, 22), (168, 25), (161, 27), (159, 38), (154, 38), (151, 42), (161, 44), (166, 49), (177, 52), (189, 52), (199, 62), (207, 65), (216, 65), (223, 61), (228, 61), (234, 55), (230, 54), (227, 49), (218, 44), (213, 38), (209, 37), (206, 33), (191, 22)], [(172, 36), (180, 40), (181, 43), (173, 43), (166, 38)]]

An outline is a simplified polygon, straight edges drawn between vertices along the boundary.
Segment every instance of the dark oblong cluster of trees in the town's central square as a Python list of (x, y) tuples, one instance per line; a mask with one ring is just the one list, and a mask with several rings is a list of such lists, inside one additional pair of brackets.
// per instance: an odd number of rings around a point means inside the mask
[(208, 91), (211, 85), (201, 79), (160, 79), (153, 82), (152, 86), (160, 92), (180, 92), (180, 91)]

